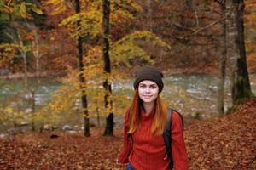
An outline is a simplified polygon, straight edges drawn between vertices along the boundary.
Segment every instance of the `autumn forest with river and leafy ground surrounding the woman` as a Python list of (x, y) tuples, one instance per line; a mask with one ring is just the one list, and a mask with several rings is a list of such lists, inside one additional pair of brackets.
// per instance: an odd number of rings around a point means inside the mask
[(0, 169), (125, 169), (143, 65), (189, 169), (256, 169), (255, 0), (0, 0)]

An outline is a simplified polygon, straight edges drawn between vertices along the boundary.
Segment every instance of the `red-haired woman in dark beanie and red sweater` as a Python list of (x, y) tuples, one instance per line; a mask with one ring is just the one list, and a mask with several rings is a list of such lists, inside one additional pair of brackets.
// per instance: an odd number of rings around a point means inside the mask
[[(124, 148), (118, 163), (128, 163), (127, 169), (170, 169), (162, 133), (167, 122), (167, 108), (160, 93), (164, 88), (163, 74), (154, 66), (144, 66), (137, 71), (131, 107), (125, 112)], [(181, 117), (172, 112), (172, 160), (175, 170), (188, 169), (188, 159), (183, 140)], [(170, 132), (171, 133), (171, 132)]]

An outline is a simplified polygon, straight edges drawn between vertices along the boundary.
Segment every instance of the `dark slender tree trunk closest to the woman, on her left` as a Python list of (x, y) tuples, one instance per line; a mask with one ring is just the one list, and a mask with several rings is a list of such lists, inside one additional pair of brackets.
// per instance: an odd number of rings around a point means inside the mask
[(109, 82), (109, 77), (111, 73), (111, 65), (109, 59), (109, 14), (110, 14), (110, 1), (102, 0), (103, 18), (102, 18), (102, 28), (103, 28), (103, 38), (102, 38), (102, 52), (104, 60), (104, 72), (106, 73), (105, 82), (103, 82), (103, 87), (105, 89), (105, 108), (108, 111), (108, 117), (106, 118), (106, 127), (104, 135), (113, 135), (113, 109), (112, 109), (112, 99), (111, 99), (111, 82)]

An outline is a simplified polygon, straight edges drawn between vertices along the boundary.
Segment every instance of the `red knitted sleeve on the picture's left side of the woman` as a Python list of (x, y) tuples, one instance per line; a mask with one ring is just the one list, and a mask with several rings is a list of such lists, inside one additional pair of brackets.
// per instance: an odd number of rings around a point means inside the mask
[(129, 109), (125, 111), (125, 121), (124, 121), (124, 144), (123, 149), (120, 151), (118, 156), (119, 163), (128, 163), (129, 156), (132, 150), (132, 139), (128, 137), (129, 131)]

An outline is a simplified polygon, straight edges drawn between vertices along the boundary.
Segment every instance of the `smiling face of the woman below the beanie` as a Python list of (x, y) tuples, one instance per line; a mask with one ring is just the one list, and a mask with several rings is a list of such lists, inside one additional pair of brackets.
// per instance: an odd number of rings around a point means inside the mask
[(152, 103), (157, 98), (159, 92), (158, 85), (150, 80), (144, 80), (138, 85), (138, 94), (145, 103)]

